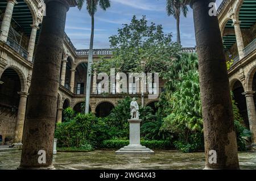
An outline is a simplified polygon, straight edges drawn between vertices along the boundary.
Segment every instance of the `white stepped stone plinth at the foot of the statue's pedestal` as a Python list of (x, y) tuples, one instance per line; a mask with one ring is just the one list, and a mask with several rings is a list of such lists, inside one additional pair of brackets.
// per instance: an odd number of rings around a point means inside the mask
[(115, 154), (154, 154), (155, 152), (146, 146), (142, 145), (128, 145), (118, 151), (115, 151)]

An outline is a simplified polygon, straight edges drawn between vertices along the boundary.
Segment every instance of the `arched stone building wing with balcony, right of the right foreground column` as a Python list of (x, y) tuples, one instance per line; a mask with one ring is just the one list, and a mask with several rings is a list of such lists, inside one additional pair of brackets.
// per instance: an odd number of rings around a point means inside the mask
[(245, 125), (256, 141), (256, 3), (251, 0), (224, 0), (218, 9), (230, 90)]

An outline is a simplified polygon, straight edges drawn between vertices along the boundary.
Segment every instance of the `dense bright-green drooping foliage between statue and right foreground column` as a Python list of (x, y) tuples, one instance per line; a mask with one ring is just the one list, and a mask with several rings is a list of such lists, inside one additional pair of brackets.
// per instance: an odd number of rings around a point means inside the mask
[(199, 88), (199, 74), (197, 70), (190, 70), (180, 77), (176, 91), (172, 93), (170, 115), (164, 119), (164, 127), (173, 133), (181, 133), (185, 140), (192, 132), (203, 130), (201, 99)]

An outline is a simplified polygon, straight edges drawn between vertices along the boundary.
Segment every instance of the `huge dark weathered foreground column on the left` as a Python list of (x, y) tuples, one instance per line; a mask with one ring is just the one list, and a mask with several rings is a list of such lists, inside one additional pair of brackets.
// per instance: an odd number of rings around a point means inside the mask
[(19, 169), (53, 169), (53, 138), (57, 113), (60, 63), (67, 0), (46, 0), (32, 73)]

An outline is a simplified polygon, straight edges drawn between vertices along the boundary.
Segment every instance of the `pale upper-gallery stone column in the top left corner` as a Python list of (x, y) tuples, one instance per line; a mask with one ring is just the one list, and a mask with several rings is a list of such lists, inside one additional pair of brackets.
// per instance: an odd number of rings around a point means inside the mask
[(18, 4), (15, 0), (7, 0), (7, 6), (5, 9), (5, 15), (3, 15), (3, 21), (1, 26), (0, 40), (6, 42), (10, 25), (11, 17), (13, 16), (14, 5)]

